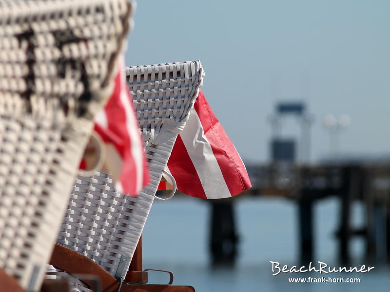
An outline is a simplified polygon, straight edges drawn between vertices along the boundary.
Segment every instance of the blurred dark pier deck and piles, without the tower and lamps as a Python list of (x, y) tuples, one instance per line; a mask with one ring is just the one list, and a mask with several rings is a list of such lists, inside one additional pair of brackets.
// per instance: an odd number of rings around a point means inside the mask
[[(350, 243), (353, 237), (365, 242), (364, 259), (368, 263), (390, 262), (390, 164), (329, 164), (296, 166), (270, 164), (248, 166), (253, 187), (242, 196), (272, 196), (298, 204), (296, 222), (300, 260), (308, 263), (315, 258), (314, 204), (336, 197), (340, 212), (338, 241), (341, 263), (351, 262)], [(352, 228), (352, 203), (359, 201), (365, 210), (365, 226)], [(239, 231), (234, 222), (234, 200), (212, 200), (210, 252), (215, 264), (234, 264)], [(293, 220), (293, 219), (292, 219)]]

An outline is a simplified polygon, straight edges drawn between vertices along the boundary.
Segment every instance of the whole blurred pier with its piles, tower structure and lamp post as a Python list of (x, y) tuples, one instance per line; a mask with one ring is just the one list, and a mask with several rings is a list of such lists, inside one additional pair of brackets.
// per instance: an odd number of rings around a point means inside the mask
[[(289, 120), (287, 120), (289, 119)], [(298, 122), (300, 135), (282, 131), (287, 121)], [(272, 136), (270, 161), (266, 165), (247, 165), (253, 187), (247, 195), (282, 197), (298, 206), (299, 259), (306, 264), (315, 259), (315, 204), (326, 198), (339, 201), (337, 258), (351, 263), (351, 239), (362, 237), (367, 263), (390, 263), (390, 159), (389, 157), (351, 157), (339, 155), (339, 135), (351, 123), (348, 115), (327, 115), (324, 126), (330, 132), (330, 160), (310, 163), (311, 126), (314, 116), (303, 101), (278, 102), (269, 117)], [(236, 199), (245, 196), (241, 194)], [(351, 222), (352, 206), (360, 202), (364, 226)], [(234, 200), (213, 200), (210, 252), (214, 264), (234, 264), (239, 231), (234, 220)], [(292, 220), (294, 220), (292, 218)]]

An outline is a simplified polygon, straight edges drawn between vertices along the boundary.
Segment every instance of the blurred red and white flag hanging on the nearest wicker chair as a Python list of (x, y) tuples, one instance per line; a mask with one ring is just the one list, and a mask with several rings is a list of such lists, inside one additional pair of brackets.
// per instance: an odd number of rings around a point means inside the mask
[(123, 58), (118, 63), (113, 93), (95, 119), (95, 131), (106, 145), (105, 167), (116, 179), (117, 191), (137, 196), (149, 176)]

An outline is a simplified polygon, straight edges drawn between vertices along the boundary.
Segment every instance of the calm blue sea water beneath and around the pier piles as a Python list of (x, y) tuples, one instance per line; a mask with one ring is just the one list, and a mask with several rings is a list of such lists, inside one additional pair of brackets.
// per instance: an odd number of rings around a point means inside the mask
[[(209, 264), (208, 232), (210, 208), (207, 201), (180, 197), (156, 201), (143, 235), (144, 268), (170, 270), (174, 284), (191, 285), (197, 292), (360, 292), (388, 291), (390, 269), (376, 266), (370, 273), (332, 274), (332, 277), (361, 279), (360, 283), (289, 283), (288, 277), (320, 277), (319, 274), (279, 274), (272, 276), (272, 261), (298, 265), (296, 206), (292, 201), (270, 198), (242, 198), (235, 212), (240, 235), (239, 259), (234, 268), (213, 270)], [(338, 201), (319, 202), (315, 207), (316, 258), (339, 267), (334, 240)], [(354, 205), (353, 222), (362, 223), (361, 206)], [(352, 242), (354, 265), (361, 260), (363, 242)], [(322, 275), (321, 275), (322, 276)], [(150, 282), (168, 281), (165, 274), (149, 275)]]

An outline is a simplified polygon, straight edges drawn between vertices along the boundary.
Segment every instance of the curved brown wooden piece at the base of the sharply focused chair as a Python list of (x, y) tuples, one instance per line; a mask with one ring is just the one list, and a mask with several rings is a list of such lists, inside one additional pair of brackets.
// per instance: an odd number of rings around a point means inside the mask
[[(115, 292), (118, 288), (117, 279), (100, 267), (93, 260), (75, 252), (74, 250), (56, 243), (50, 264), (68, 272), (69, 274), (89, 274), (96, 275), (100, 279), (102, 292)], [(93, 287), (93, 281), (82, 279), (90, 287)]]

